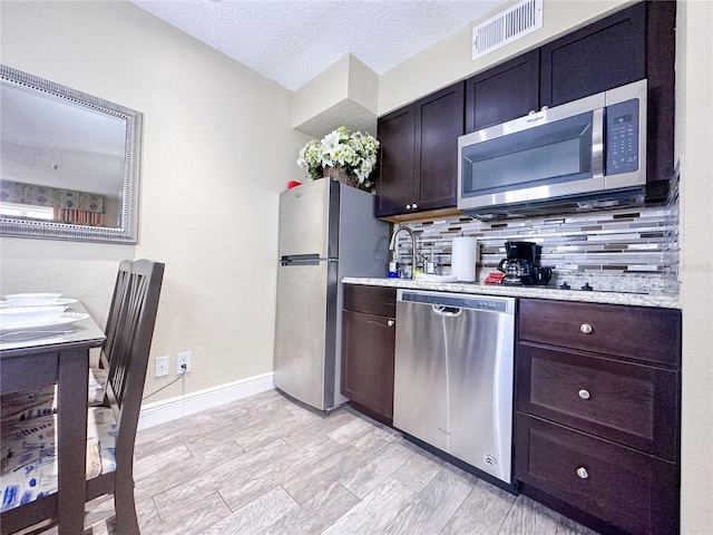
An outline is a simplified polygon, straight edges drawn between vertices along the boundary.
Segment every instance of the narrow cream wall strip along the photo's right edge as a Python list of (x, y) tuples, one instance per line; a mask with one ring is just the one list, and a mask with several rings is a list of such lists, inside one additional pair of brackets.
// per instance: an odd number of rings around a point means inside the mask
[(681, 533), (713, 532), (713, 2), (678, 1), (683, 422)]

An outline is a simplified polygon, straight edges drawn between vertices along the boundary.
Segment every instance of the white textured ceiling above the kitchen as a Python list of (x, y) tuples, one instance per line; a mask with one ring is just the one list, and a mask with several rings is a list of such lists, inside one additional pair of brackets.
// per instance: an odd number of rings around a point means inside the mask
[(378, 75), (510, 0), (135, 0), (296, 90), (344, 54)]

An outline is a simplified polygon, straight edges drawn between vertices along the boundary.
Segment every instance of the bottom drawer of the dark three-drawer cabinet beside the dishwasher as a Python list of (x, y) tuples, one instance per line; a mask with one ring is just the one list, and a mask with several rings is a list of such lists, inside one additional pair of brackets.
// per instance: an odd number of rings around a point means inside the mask
[(673, 463), (516, 414), (516, 478), (625, 532), (675, 534)]

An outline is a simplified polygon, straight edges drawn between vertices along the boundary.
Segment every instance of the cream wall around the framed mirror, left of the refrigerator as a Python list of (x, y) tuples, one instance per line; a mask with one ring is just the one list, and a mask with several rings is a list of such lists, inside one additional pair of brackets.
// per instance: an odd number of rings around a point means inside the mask
[(309, 139), (292, 94), (129, 2), (0, 9), (3, 65), (144, 113), (138, 244), (3, 237), (1, 292), (61, 291), (102, 323), (118, 262), (162, 261), (152, 356), (193, 369), (150, 400), (272, 371), (277, 197)]

